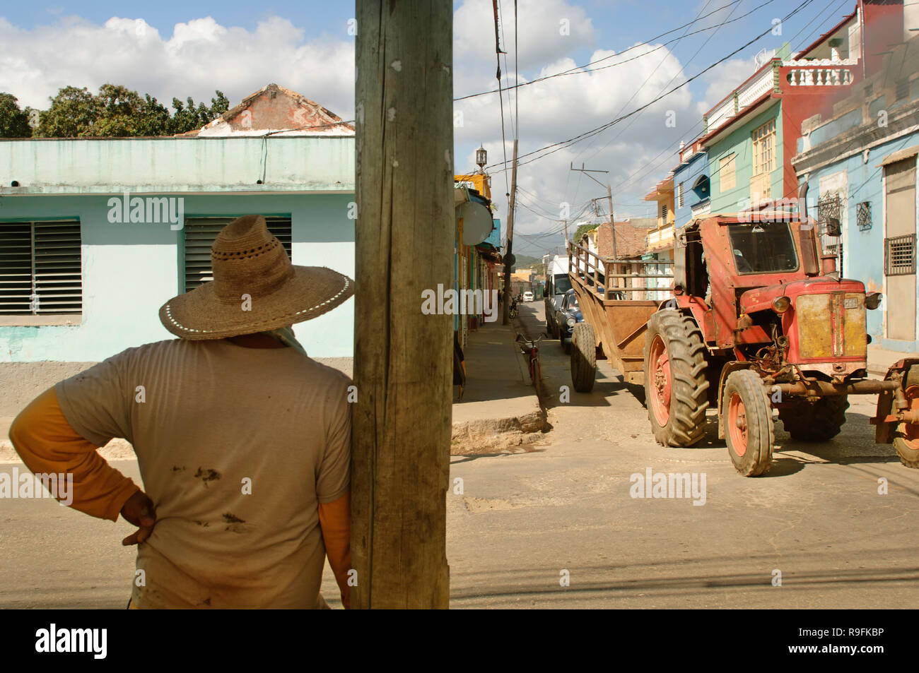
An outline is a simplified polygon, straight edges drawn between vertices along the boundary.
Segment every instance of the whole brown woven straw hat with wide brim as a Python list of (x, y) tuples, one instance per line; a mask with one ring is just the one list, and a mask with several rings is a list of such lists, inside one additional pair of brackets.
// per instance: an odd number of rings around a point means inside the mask
[(311, 320), (354, 294), (354, 281), (323, 266), (294, 266), (261, 215), (234, 219), (210, 249), (214, 279), (160, 308), (176, 336), (224, 339)]

